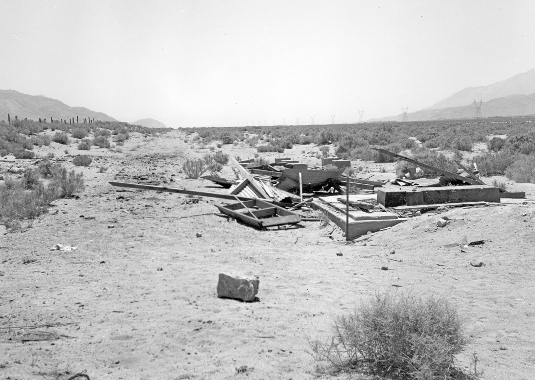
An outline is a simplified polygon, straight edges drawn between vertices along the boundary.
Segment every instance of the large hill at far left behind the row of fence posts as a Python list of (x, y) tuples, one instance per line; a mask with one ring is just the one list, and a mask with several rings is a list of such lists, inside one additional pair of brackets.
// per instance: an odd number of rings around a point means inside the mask
[(7, 114), (12, 120), (17, 116), (20, 120), (27, 118), (32, 120), (47, 119), (68, 120), (79, 117), (81, 122), (84, 118), (102, 121), (117, 121), (102, 112), (91, 111), (85, 107), (70, 107), (56, 99), (47, 98), (43, 95), (27, 95), (15, 90), (0, 90), (0, 120), (7, 121)]

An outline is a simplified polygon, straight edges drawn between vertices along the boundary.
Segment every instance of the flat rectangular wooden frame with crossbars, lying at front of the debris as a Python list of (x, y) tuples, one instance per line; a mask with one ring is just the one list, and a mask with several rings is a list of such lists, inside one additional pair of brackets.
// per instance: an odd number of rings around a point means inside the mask
[(300, 216), (295, 212), (273, 205), (263, 199), (250, 199), (230, 205), (219, 203), (215, 206), (221, 213), (256, 228), (295, 224), (301, 221)]

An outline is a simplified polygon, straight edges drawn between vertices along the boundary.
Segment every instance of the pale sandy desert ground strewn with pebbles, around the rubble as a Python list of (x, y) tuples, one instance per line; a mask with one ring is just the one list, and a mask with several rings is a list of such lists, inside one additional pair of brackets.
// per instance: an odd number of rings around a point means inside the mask
[[(336, 315), (376, 293), (410, 292), (456, 305), (471, 338), (457, 358), (461, 367), (470, 370), (476, 352), (480, 378), (535, 379), (535, 185), (507, 180), (509, 191), (527, 198), (424, 213), (348, 243), (333, 223), (256, 230), (219, 214), (218, 199), (112, 187), (109, 181), (226, 191), (186, 179), (182, 163), (209, 150), (185, 142), (184, 131), (131, 135), (123, 152), (72, 144), (66, 153), (53, 142), (35, 149), (70, 168), (77, 154), (93, 163), (72, 167), (85, 177), (78, 198), (58, 200), (21, 231), (0, 227), (0, 377), (318, 378), (310, 342), (332, 335)], [(256, 152), (243, 143), (222, 150), (241, 159)], [(294, 145), (284, 156), (319, 166), (317, 150)], [(101, 173), (103, 165), (109, 169)], [(356, 176), (395, 177), (395, 164), (352, 165), (363, 167)], [(220, 175), (234, 174), (224, 166)], [(436, 225), (441, 216), (451, 219), (445, 228)], [(463, 236), (485, 244), (468, 253), (443, 247)], [(56, 244), (77, 249), (51, 251)], [(259, 276), (259, 301), (217, 298), (221, 272)]]

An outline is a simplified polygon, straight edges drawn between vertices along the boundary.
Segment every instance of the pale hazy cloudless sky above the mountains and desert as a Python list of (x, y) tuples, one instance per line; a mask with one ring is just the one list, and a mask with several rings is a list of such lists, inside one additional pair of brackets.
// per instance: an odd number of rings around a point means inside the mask
[(535, 67), (535, 2), (0, 0), (0, 89), (168, 127), (358, 121)]

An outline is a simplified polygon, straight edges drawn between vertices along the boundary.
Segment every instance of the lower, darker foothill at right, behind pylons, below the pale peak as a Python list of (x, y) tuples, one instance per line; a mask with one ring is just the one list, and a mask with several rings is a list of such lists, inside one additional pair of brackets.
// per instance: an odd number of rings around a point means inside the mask
[[(473, 99), (472, 99), (473, 102)], [(501, 98), (491, 99), (481, 106), (484, 118), (492, 116), (519, 116), (535, 114), (535, 93), (530, 95), (515, 94)], [(437, 119), (463, 119), (473, 118), (476, 115), (476, 106), (473, 104), (462, 107), (447, 107), (434, 110), (421, 110), (409, 112), (409, 121), (437, 120)], [(389, 116), (368, 121), (401, 121), (403, 114)]]

